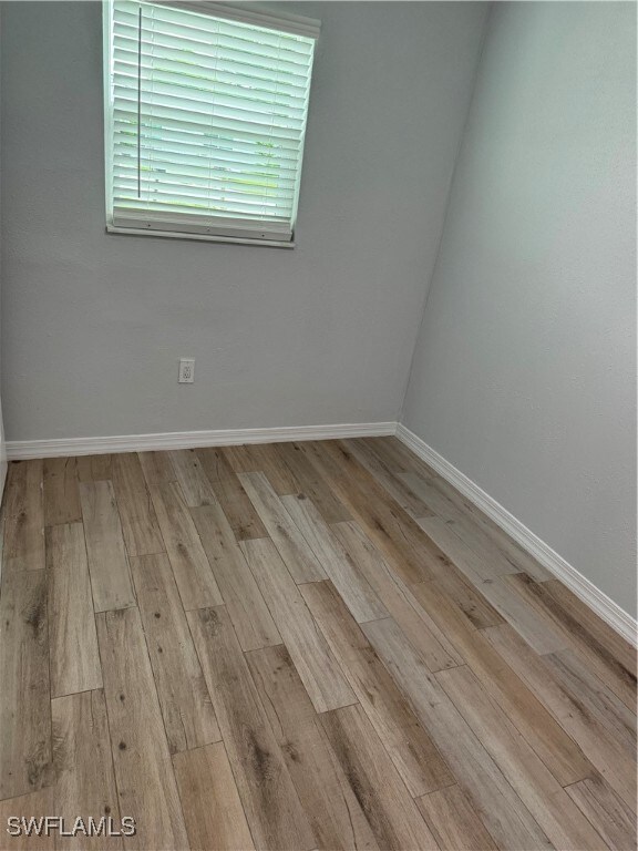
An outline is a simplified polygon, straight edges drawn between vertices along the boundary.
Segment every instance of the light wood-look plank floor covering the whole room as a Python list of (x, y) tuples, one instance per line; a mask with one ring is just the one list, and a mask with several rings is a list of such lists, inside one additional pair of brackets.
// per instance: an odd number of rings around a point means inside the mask
[(0, 849), (636, 848), (634, 649), (395, 439), (13, 462), (2, 520)]

